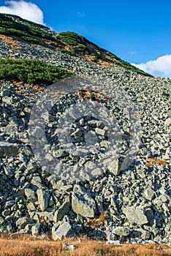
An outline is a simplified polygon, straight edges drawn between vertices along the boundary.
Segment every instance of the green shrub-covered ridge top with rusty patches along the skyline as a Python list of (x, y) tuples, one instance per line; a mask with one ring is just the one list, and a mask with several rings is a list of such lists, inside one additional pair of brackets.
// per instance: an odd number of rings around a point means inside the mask
[(142, 75), (151, 76), (79, 34), (70, 31), (56, 33), (45, 26), (23, 20), (16, 15), (0, 14), (0, 34), (60, 50), (62, 53), (72, 56), (81, 56), (83, 59), (103, 67), (110, 68), (114, 64)]

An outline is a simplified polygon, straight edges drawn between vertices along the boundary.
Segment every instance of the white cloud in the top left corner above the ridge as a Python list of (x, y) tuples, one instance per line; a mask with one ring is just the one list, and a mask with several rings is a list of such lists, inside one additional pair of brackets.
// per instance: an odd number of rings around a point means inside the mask
[(5, 1), (5, 6), (0, 6), (0, 12), (18, 15), (26, 20), (45, 25), (42, 10), (31, 2), (23, 0)]

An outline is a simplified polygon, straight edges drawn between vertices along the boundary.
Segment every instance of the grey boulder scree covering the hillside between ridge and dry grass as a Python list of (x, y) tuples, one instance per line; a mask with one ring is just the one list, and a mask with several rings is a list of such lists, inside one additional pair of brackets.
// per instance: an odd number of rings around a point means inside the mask
[[(45, 135), (32, 125), (34, 138), (39, 138), (38, 148), (44, 137), (50, 147), (42, 165), (31, 146), (28, 127), (37, 99), (42, 99), (41, 109), (45, 108), (48, 86), (1, 80), (1, 233), (31, 233), (39, 238), (50, 235), (54, 240), (87, 234), (113, 244), (170, 244), (171, 80), (140, 75), (114, 64), (102, 67), (80, 56), (19, 39), (15, 39), (14, 48), (14, 42), (6, 39), (0, 40), (1, 59), (39, 59), (80, 75), (86, 79), (84, 83), (91, 80), (91, 86), (84, 90), (73, 86), (72, 91), (57, 95), (44, 118)], [(96, 104), (112, 111), (118, 137), (111, 137), (114, 128), (109, 129), (105, 116), (94, 116)], [(75, 105), (82, 116), (75, 114)], [(136, 109), (131, 117), (126, 112), (130, 108)], [(36, 123), (39, 113), (34, 115)], [(60, 139), (58, 127), (61, 135), (70, 132), (72, 151), (65, 145), (66, 138)], [(140, 138), (133, 140), (136, 135), (132, 132), (137, 130)], [(134, 161), (123, 168), (132, 141), (137, 143), (137, 152)], [(108, 154), (103, 168), (94, 167), (107, 154), (111, 142), (115, 144), (115, 159), (111, 161)], [(85, 154), (75, 150), (85, 147)], [(52, 171), (53, 158), (59, 165)], [(65, 171), (62, 176), (61, 165)], [(75, 166), (81, 175), (72, 175)]]

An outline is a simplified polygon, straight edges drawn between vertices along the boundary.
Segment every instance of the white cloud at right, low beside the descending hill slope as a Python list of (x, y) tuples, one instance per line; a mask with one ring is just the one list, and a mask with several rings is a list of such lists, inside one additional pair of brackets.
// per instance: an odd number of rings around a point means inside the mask
[(160, 56), (158, 59), (147, 61), (145, 63), (132, 63), (132, 65), (151, 75), (171, 78), (171, 54)]

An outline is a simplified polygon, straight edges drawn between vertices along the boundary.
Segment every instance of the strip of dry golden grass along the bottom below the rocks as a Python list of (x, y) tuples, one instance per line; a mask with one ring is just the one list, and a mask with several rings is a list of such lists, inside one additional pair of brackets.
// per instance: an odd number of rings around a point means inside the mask
[[(74, 244), (72, 252), (62, 248), (63, 244)], [(113, 245), (105, 241), (94, 241), (82, 238), (63, 241), (36, 240), (25, 237), (18, 239), (0, 238), (0, 256), (169, 256), (171, 248), (166, 245)]]

